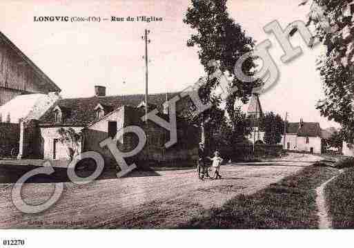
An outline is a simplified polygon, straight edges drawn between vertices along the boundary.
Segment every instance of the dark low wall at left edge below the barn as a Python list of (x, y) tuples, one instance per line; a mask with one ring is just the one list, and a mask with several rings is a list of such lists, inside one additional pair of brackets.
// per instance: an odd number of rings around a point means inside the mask
[(0, 122), (0, 157), (11, 156), (12, 149), (19, 149), (20, 127), (18, 123)]

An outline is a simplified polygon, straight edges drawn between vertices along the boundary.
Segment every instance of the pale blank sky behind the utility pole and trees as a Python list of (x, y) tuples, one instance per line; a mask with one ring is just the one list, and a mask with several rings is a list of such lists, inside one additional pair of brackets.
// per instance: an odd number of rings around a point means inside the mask
[[(197, 48), (186, 46), (193, 30), (183, 23), (190, 0), (1, 0), (0, 30), (61, 89), (63, 97), (90, 97), (94, 86), (107, 95), (145, 91), (145, 47), (141, 35), (150, 30), (148, 45), (149, 93), (184, 90), (204, 75)], [(277, 85), (260, 101), (264, 111), (290, 122), (319, 122), (322, 128), (339, 126), (319, 115), (315, 104), (323, 97), (315, 60), (322, 45), (307, 48), (299, 35), (291, 38), (303, 54), (288, 64), (280, 61), (282, 48), (264, 32), (277, 20), (285, 28), (306, 20), (308, 6), (297, 0), (229, 0), (230, 17), (240, 23), (256, 44), (270, 39), (270, 53), (280, 72)], [(162, 17), (163, 21), (39, 22), (34, 17)]]

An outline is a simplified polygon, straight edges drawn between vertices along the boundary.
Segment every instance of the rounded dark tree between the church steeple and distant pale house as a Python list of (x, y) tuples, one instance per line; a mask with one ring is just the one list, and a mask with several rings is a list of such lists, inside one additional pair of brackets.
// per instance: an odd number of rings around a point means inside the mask
[(264, 131), (266, 144), (277, 144), (282, 140), (284, 121), (280, 115), (268, 112), (260, 119), (259, 128)]

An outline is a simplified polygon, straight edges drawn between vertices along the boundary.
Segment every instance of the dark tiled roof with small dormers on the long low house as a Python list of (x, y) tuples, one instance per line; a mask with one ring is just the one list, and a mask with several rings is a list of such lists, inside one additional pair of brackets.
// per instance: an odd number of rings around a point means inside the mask
[[(178, 93), (168, 93), (168, 99), (173, 98)], [(166, 93), (152, 94), (148, 96), (148, 102), (155, 104), (160, 112), (163, 111), (164, 102), (166, 101)], [(48, 111), (39, 119), (41, 125), (48, 126), (86, 126), (91, 122), (96, 121), (95, 107), (97, 104), (102, 106), (109, 106), (110, 109), (115, 110), (121, 106), (137, 107), (145, 99), (145, 95), (112, 95), (105, 97), (85, 97), (85, 98), (66, 98), (59, 99)], [(177, 102), (177, 111), (181, 108), (182, 101)], [(65, 108), (69, 113), (62, 122), (55, 123), (55, 113), (53, 108), (59, 106)]]

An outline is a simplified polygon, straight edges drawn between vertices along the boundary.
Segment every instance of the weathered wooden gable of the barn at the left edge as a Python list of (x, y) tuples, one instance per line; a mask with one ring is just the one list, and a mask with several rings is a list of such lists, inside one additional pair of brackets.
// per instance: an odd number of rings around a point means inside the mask
[(60, 91), (41, 69), (0, 32), (0, 106), (18, 95)]

